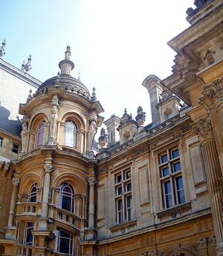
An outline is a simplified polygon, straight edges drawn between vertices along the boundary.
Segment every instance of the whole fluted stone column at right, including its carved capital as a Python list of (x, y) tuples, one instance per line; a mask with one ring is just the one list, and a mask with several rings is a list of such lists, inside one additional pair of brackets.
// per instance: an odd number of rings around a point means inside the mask
[(193, 132), (198, 135), (207, 175), (207, 190), (210, 195), (213, 225), (216, 231), (217, 255), (223, 255), (223, 180), (222, 170), (213, 137), (209, 116), (191, 124)]

